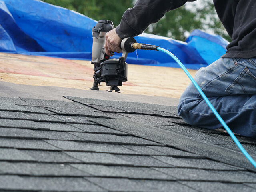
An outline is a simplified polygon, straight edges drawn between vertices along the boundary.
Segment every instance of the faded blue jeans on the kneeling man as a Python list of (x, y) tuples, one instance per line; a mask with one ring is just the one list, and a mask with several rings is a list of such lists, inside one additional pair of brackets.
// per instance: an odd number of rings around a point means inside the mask
[[(233, 132), (256, 138), (256, 57), (220, 58), (194, 79)], [(178, 115), (194, 126), (222, 128), (192, 83), (180, 97)]]

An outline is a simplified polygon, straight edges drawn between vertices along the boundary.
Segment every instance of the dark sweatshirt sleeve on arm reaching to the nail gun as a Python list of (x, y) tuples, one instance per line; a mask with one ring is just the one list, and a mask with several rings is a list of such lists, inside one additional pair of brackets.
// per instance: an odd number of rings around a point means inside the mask
[(189, 0), (138, 0), (133, 8), (124, 12), (116, 33), (121, 39), (137, 36), (150, 24), (158, 22), (166, 12), (179, 8), (187, 1)]

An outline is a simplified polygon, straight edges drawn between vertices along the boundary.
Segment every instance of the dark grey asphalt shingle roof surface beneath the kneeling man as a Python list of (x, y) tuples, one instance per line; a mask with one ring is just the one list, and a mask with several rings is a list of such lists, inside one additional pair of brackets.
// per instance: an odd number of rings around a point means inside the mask
[[(0, 97), (0, 190), (256, 191), (255, 169), (223, 130), (174, 106)], [(237, 135), (256, 158), (256, 140)]]

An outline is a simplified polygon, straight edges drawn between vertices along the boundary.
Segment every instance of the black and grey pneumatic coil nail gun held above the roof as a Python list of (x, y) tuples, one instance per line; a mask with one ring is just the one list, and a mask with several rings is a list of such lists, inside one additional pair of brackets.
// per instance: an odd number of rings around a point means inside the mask
[[(110, 92), (115, 90), (119, 92), (118, 86), (122, 86), (122, 82), (127, 81), (127, 68), (125, 62), (128, 52), (134, 52), (131, 44), (136, 43), (134, 38), (125, 38), (121, 42), (123, 54), (118, 59), (110, 59), (105, 53), (104, 43), (107, 32), (114, 28), (114, 24), (109, 20), (99, 20), (96, 26), (92, 28), (92, 61), (94, 64), (94, 82), (92, 90), (99, 90), (99, 84), (106, 82), (110, 86)], [(114, 53), (113, 53), (114, 54)]]

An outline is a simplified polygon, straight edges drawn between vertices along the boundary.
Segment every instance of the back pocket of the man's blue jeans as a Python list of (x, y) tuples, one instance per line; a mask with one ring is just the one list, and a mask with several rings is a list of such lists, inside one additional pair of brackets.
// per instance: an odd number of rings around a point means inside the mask
[(256, 94), (256, 77), (244, 67), (239, 76), (225, 90), (228, 94)]

